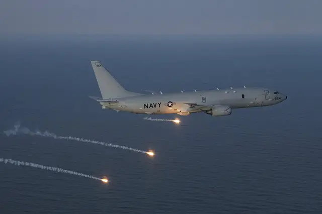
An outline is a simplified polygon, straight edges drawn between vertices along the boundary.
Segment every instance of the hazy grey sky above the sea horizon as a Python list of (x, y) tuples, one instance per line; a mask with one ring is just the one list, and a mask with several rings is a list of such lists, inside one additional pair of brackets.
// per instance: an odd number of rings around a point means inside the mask
[(0, 0), (0, 34), (321, 34), (322, 0)]

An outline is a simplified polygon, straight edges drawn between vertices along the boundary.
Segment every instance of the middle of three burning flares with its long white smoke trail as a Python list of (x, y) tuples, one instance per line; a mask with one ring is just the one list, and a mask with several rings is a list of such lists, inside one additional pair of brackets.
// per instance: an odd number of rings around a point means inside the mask
[(126, 147), (126, 146), (120, 146), (120, 145), (117, 145), (117, 144), (105, 143), (105, 142), (100, 142), (100, 141), (95, 141), (95, 140), (88, 140), (88, 139), (77, 138), (77, 137), (72, 137), (72, 136), (68, 136), (68, 137), (58, 136), (58, 135), (56, 135), (54, 133), (50, 133), (48, 131), (45, 131), (45, 132), (40, 132), (40, 131), (32, 132), (26, 127), (20, 127), (19, 122), (17, 122), (15, 124), (15, 129), (4, 131), (4, 133), (7, 136), (18, 135), (18, 134), (26, 134), (26, 135), (31, 135), (31, 136), (39, 135), (39, 136), (50, 137), (50, 138), (54, 138), (54, 139), (65, 139), (65, 140), (72, 140), (72, 141), (81, 141), (81, 142), (86, 142), (86, 143), (94, 143), (94, 144), (99, 144), (99, 145), (104, 145), (104, 146), (110, 146), (110, 147), (114, 147), (114, 148), (126, 149), (126, 150), (129, 150), (129, 151), (145, 153), (145, 154), (148, 154), (148, 155), (150, 154), (150, 152), (146, 152), (146, 151), (139, 150), (139, 149), (133, 149), (133, 148)]

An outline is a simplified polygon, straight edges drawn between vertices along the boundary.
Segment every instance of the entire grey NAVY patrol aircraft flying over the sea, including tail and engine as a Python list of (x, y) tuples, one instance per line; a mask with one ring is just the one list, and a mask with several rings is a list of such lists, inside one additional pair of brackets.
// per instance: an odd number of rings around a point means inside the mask
[(142, 94), (126, 90), (106, 70), (100, 61), (91, 61), (102, 97), (90, 96), (112, 109), (135, 114), (206, 113), (211, 116), (227, 116), (232, 109), (268, 106), (280, 103), (287, 96), (267, 88), (229, 88), (191, 92)]

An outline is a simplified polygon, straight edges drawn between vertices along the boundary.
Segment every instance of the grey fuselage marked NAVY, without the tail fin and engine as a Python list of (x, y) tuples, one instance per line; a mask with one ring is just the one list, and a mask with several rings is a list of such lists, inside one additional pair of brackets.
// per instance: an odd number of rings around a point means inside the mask
[[(204, 105), (195, 112), (205, 112), (211, 106), (224, 105), (231, 109), (274, 105), (287, 98), (286, 95), (267, 88), (234, 88), (148, 94), (117, 98), (117, 103), (101, 102), (103, 109), (113, 109), (136, 114), (182, 114), (188, 104)], [(188, 114), (189, 115), (189, 114)]]

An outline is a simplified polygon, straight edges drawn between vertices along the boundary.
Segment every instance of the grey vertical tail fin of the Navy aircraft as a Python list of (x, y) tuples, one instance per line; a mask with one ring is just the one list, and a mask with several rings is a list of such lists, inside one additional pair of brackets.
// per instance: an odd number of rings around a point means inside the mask
[(91, 61), (102, 98), (120, 98), (140, 95), (139, 93), (127, 91), (111, 74), (106, 70), (100, 61)]

